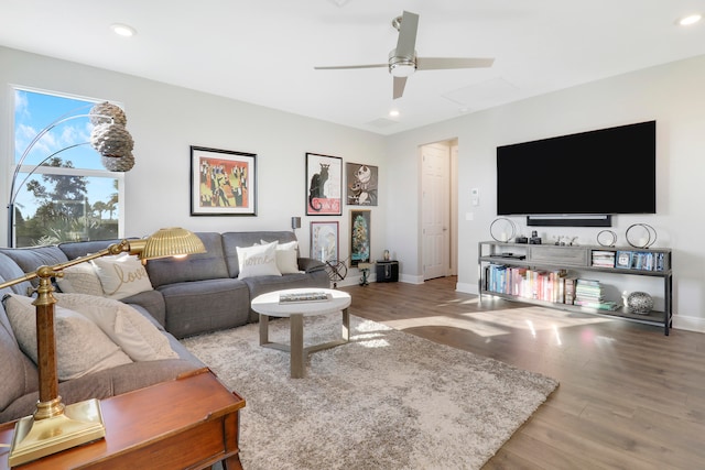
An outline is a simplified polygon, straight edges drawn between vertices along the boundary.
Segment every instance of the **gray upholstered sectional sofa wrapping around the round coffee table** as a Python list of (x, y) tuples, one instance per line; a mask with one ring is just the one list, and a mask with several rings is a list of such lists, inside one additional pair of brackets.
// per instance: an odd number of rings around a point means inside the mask
[[(234, 328), (257, 321), (250, 300), (257, 295), (295, 287), (328, 287), (325, 264), (297, 258), (300, 272), (238, 278), (238, 247), (263, 241), (295, 241), (293, 232), (197, 232), (206, 253), (185, 259), (149, 261), (147, 272), (153, 289), (122, 298), (149, 318), (169, 338), (178, 359), (131, 362), (109, 370), (59, 383), (64, 403), (105, 398), (154, 383), (172, 380), (205, 367), (178, 342), (187, 336)], [(97, 252), (111, 241), (62, 243), (52, 247), (0, 248), (0, 283), (32, 272), (40, 265), (53, 265)], [(30, 282), (0, 291), (26, 295)], [(0, 423), (33, 413), (39, 396), (36, 365), (22, 352), (7, 313), (0, 304)]]

